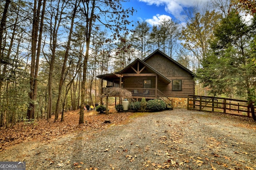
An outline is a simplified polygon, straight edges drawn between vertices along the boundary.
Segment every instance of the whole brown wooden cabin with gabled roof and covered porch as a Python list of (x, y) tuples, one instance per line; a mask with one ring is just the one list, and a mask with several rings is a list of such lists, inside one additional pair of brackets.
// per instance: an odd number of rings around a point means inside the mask
[(121, 71), (97, 77), (107, 81), (106, 87), (102, 87), (103, 96), (108, 88), (122, 87), (130, 91), (135, 100), (163, 99), (170, 104), (172, 100), (176, 103), (178, 98), (186, 99), (195, 93), (194, 73), (160, 50), (143, 60), (135, 59)]

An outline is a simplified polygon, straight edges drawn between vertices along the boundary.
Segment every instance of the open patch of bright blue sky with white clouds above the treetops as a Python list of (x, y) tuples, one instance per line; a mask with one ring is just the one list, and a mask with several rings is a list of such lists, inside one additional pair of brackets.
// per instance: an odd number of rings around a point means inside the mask
[(132, 20), (147, 21), (150, 25), (157, 24), (164, 18), (172, 18), (176, 22), (185, 22), (185, 10), (193, 5), (199, 6), (210, 0), (130, 0), (123, 3), (124, 7), (133, 7), (137, 12)]

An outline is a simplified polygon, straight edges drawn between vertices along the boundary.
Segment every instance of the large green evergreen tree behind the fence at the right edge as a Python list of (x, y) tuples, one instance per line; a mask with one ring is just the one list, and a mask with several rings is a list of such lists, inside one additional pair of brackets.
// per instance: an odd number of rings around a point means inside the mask
[[(250, 106), (256, 99), (255, 51), (252, 52), (253, 45), (250, 46), (255, 36), (251, 31), (254, 24), (246, 25), (238, 12), (232, 10), (214, 31), (211, 51), (197, 73), (204, 86), (210, 87), (211, 94), (245, 97)], [(256, 120), (254, 113), (252, 115)]]

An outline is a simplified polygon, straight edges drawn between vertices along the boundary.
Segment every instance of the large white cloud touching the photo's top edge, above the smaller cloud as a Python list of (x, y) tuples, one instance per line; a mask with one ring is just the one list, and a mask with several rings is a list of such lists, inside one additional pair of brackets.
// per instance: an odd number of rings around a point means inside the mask
[(195, 4), (203, 4), (210, 0), (139, 0), (140, 2), (146, 2), (148, 5), (164, 6), (166, 12), (172, 14), (175, 18), (182, 20), (184, 16), (183, 8), (189, 8)]

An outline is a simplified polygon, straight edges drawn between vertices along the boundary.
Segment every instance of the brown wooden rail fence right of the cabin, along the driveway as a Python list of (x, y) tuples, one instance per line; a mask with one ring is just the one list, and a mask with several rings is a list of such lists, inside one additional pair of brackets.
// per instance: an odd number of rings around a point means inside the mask
[(248, 101), (222, 97), (188, 95), (187, 109), (252, 117)]

